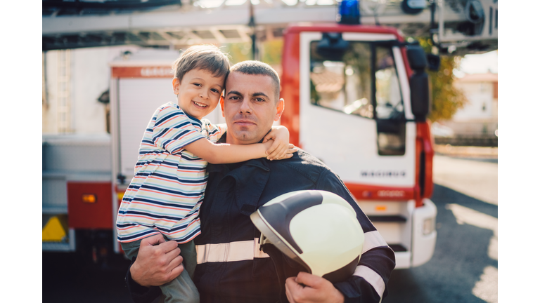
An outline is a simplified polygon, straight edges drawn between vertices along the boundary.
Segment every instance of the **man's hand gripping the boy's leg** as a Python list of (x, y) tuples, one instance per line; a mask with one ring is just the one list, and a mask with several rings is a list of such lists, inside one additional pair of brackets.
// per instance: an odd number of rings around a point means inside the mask
[(139, 255), (131, 265), (131, 278), (141, 286), (159, 286), (172, 281), (184, 271), (180, 248), (161, 234), (144, 238)]

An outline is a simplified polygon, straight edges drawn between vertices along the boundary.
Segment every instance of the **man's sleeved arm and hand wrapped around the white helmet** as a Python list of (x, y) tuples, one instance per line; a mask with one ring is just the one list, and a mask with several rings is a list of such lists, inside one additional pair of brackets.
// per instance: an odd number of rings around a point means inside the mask
[(364, 229), (364, 252), (353, 276), (346, 281), (332, 284), (324, 278), (307, 273), (288, 278), (285, 289), (289, 301), (296, 303), (380, 302), (387, 295), (386, 285), (395, 267), (394, 252), (356, 204), (338, 175), (330, 170), (321, 174), (316, 189), (338, 194), (354, 208), (356, 218)]

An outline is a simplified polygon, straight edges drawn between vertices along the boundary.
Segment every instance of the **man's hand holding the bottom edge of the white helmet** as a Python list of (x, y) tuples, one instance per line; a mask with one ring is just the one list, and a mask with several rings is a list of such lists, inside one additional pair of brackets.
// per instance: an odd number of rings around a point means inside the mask
[(290, 277), (285, 281), (285, 294), (290, 303), (343, 303), (345, 301), (343, 294), (330, 281), (302, 271), (298, 273), (298, 276)]

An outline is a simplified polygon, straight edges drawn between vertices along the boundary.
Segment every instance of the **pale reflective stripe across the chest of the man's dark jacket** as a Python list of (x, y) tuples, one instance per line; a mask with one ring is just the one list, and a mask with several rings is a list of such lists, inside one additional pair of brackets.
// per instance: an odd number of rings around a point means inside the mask
[(197, 264), (234, 262), (269, 257), (260, 250), (259, 238), (249, 241), (196, 245)]

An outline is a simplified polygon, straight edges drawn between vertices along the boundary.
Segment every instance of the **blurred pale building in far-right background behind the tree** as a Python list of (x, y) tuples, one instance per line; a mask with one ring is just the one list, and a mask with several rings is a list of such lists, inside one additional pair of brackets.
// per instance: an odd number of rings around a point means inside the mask
[(451, 128), (451, 137), (435, 137), (437, 144), (497, 146), (498, 128), (498, 74), (465, 74), (457, 79), (457, 88), (463, 90), (468, 103), (459, 109), (450, 121), (441, 122)]

